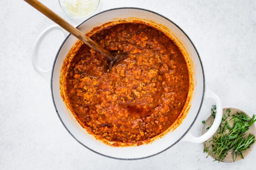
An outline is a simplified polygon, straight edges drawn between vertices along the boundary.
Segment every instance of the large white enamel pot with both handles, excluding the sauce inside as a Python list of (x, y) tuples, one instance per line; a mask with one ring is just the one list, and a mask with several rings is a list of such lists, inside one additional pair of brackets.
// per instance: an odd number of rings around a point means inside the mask
[[(77, 41), (77, 39), (70, 34), (66, 36), (55, 57), (52, 70), (42, 70), (38, 65), (37, 54), (42, 39), (47, 36), (49, 32), (55, 29), (59, 29), (66, 33), (59, 26), (51, 26), (43, 31), (36, 41), (36, 45), (33, 50), (33, 66), (35, 70), (46, 79), (49, 79), (49, 77), (51, 77), (50, 83), (53, 103), (59, 119), (61, 120), (62, 124), (67, 129), (69, 134), (71, 134), (80, 144), (100, 155), (116, 159), (130, 160), (147, 158), (153, 155), (157, 155), (165, 151), (166, 149), (171, 148), (173, 145), (181, 140), (195, 143), (204, 142), (205, 140), (210, 138), (219, 127), (222, 117), (221, 101), (218, 96), (216, 96), (212, 91), (206, 88), (203, 66), (197, 50), (193, 45), (192, 41), (185, 34), (185, 32), (181, 30), (179, 26), (177, 26), (174, 22), (170, 21), (164, 16), (149, 10), (143, 10), (138, 8), (118, 8), (96, 14), (91, 18), (87, 19), (86, 21), (82, 22), (77, 28), (80, 31), (86, 33), (87, 31), (92, 30), (94, 27), (101, 26), (102, 24), (109, 21), (117, 21), (120, 19), (130, 18), (136, 18), (146, 22), (150, 21), (151, 23), (159, 26), (162, 30), (165, 30), (165, 32), (170, 34), (179, 44), (181, 49), (185, 50), (185, 53), (187, 53), (187, 61), (189, 61), (190, 67), (192, 69), (191, 83), (193, 84), (193, 89), (191, 91), (192, 98), (189, 103), (190, 108), (187, 111), (188, 113), (186, 118), (183, 119), (182, 123), (175, 130), (168, 132), (163, 137), (155, 140), (151, 144), (144, 144), (132, 147), (112, 147), (102, 143), (101, 141), (96, 140), (93, 136), (88, 134), (86, 130), (83, 129), (80, 124), (75, 120), (73, 115), (69, 113), (69, 110), (66, 108), (66, 105), (60, 95), (60, 70), (62, 68), (64, 58), (66, 57), (70, 48), (74, 45), (75, 41)], [(200, 112), (203, 99), (206, 97), (213, 98), (216, 101), (215, 104), (217, 105), (217, 115), (212, 127), (208, 130), (206, 134), (203, 134), (203, 136), (200, 137), (194, 137), (190, 133), (190, 129), (194, 124), (197, 115)]]

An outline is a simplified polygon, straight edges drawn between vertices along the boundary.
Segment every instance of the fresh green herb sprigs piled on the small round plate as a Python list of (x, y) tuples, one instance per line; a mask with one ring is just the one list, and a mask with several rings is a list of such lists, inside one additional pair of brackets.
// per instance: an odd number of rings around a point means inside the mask
[[(209, 155), (213, 155), (215, 160), (219, 162), (224, 160), (229, 151), (232, 152), (233, 161), (238, 156), (241, 156), (243, 159), (242, 151), (250, 148), (255, 140), (255, 136), (249, 134), (247, 138), (244, 137), (245, 132), (249, 127), (256, 122), (255, 115), (253, 114), (252, 118), (249, 118), (245, 113), (236, 113), (230, 114), (230, 109), (223, 114), (221, 123), (217, 132), (213, 135), (213, 139), (206, 141), (203, 151)], [(216, 106), (211, 108), (211, 115), (215, 118), (216, 115)], [(230, 117), (230, 120), (227, 118)], [(230, 123), (234, 122), (234, 125), (231, 127)], [(205, 121), (202, 121), (205, 124)], [(210, 125), (207, 129), (210, 128)]]

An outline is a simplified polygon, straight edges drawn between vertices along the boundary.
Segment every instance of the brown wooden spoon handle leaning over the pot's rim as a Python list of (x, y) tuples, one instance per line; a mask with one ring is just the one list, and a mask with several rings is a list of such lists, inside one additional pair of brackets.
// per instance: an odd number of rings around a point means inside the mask
[(79, 40), (83, 41), (87, 46), (90, 46), (95, 51), (100, 52), (104, 56), (108, 57), (108, 59), (111, 61), (114, 58), (112, 57), (112, 54), (110, 52), (108, 52), (107, 50), (103, 49), (101, 46), (96, 44), (96, 42), (92, 41), (91, 38), (89, 38), (88, 36), (85, 36), (85, 34), (83, 34), (77, 28), (69, 24), (67, 21), (65, 21), (63, 18), (61, 18), (56, 13), (54, 13), (52, 10), (50, 10), (48, 7), (43, 5), (38, 0), (25, 0), (25, 1), (31, 6), (33, 6), (34, 8), (36, 8), (38, 11), (40, 11), (43, 15), (47, 16), (53, 22), (55, 22), (56, 24), (64, 28), (70, 34), (72, 34)]

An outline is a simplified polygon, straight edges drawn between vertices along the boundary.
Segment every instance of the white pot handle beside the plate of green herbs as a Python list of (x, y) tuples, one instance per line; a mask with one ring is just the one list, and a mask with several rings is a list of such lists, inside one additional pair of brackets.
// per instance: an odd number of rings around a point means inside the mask
[(216, 102), (216, 116), (214, 118), (213, 124), (212, 124), (211, 128), (208, 129), (208, 131), (205, 134), (203, 134), (202, 136), (199, 136), (199, 137), (194, 137), (191, 133), (191, 130), (188, 131), (188, 133), (181, 139), (181, 141), (188, 141), (188, 142), (193, 142), (193, 143), (203, 143), (204, 141), (209, 139), (211, 136), (213, 136), (213, 134), (215, 134), (215, 132), (219, 128), (219, 124), (221, 122), (222, 114), (223, 114), (221, 100), (207, 86), (205, 88), (204, 94), (205, 94), (205, 98), (213, 98)]

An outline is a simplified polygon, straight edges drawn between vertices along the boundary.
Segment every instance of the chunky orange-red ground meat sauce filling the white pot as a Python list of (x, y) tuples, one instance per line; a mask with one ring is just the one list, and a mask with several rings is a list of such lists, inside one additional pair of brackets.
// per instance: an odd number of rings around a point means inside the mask
[[(176, 44), (143, 23), (121, 23), (91, 39), (128, 56), (107, 70), (107, 59), (78, 41), (66, 70), (65, 102), (97, 139), (140, 145), (178, 118), (189, 89), (186, 61)], [(67, 57), (69, 57), (69, 55)]]

